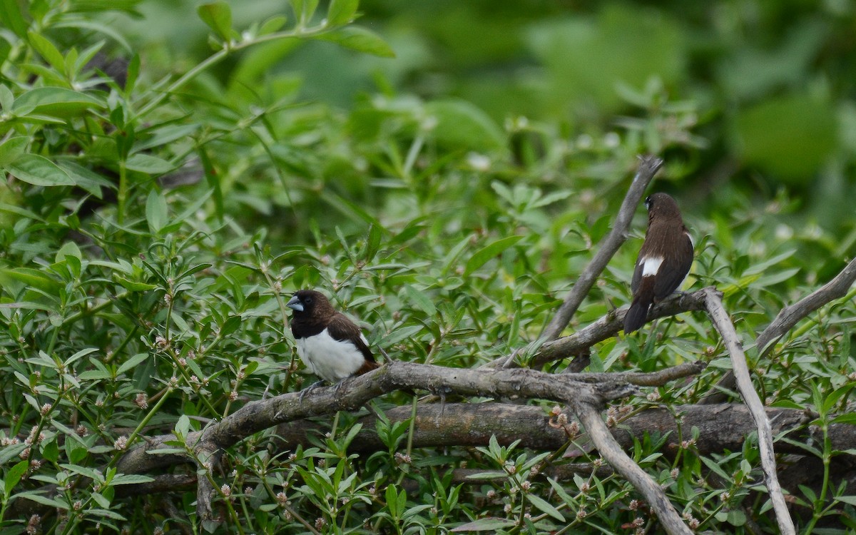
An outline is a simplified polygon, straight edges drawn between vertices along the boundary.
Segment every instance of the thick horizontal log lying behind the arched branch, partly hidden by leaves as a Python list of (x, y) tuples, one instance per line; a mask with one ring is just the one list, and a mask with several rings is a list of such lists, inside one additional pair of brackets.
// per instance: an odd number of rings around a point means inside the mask
[[(782, 453), (805, 455), (800, 443), (824, 440), (823, 431), (806, 426), (810, 417), (806, 417), (803, 411), (768, 407), (766, 412), (773, 434), (786, 436), (791, 441), (776, 444)], [(394, 424), (403, 422), (410, 418), (411, 407), (393, 407), (384, 414)], [(570, 415), (568, 420), (574, 421), (574, 416)], [(560, 449), (568, 441), (568, 434), (555, 422), (550, 425), (550, 421), (544, 407), (532, 405), (494, 402), (420, 405), (413, 422), (413, 448), (485, 446), (493, 436), (505, 446), (520, 441), (521, 448), (537, 451)], [(362, 431), (348, 451), (360, 455), (385, 451), (387, 446), (375, 431), (377, 418), (366, 415), (359, 422), (363, 426)], [(646, 433), (669, 434), (661, 451), (671, 456), (681, 448), (681, 441), (693, 427), (698, 428), (693, 449), (700, 455), (710, 455), (742, 448), (746, 436), (755, 431), (755, 422), (743, 404), (679, 405), (674, 407), (674, 411), (651, 407), (635, 413), (621, 419), (610, 431), (624, 449), (632, 449), (633, 441), (642, 440)], [(308, 447), (311, 437), (318, 436), (319, 431), (328, 431), (328, 426), (316, 421), (297, 420), (279, 425), (276, 436), (282, 439), (282, 449), (293, 450), (298, 446)], [(825, 439), (830, 441), (832, 449), (853, 449), (856, 425), (833, 424)]]

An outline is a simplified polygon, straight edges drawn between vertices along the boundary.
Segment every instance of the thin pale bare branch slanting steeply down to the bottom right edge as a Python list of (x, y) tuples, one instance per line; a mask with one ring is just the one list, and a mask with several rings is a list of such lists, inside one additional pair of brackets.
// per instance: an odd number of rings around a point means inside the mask
[(749, 366), (746, 365), (743, 345), (740, 343), (737, 331), (734, 330), (734, 324), (728, 318), (728, 312), (725, 312), (725, 307), (722, 306), (720, 294), (710, 289), (706, 291), (708, 293), (707, 311), (710, 314), (710, 321), (713, 322), (716, 330), (722, 336), (722, 341), (728, 348), (728, 354), (731, 355), (731, 367), (737, 380), (737, 388), (740, 389), (740, 395), (746, 402), (746, 407), (749, 408), (752, 419), (755, 420), (755, 425), (758, 427), (758, 449), (761, 454), (761, 466), (764, 467), (764, 481), (767, 484), (767, 490), (770, 492), (773, 510), (776, 511), (779, 531), (785, 535), (794, 535), (796, 533), (794, 520), (788, 513), (788, 504), (785, 502), (785, 496), (782, 494), (782, 487), (779, 485), (779, 478), (776, 473), (776, 453), (773, 451), (773, 433), (770, 429), (770, 420), (767, 419), (767, 414), (764, 412), (761, 398), (752, 388), (752, 379), (749, 377)]

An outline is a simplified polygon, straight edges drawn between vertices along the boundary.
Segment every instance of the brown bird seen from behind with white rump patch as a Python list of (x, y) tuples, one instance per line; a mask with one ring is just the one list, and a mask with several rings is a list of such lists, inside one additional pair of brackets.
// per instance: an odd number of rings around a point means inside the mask
[(690, 237), (675, 199), (666, 193), (645, 198), (648, 230), (633, 270), (633, 301), (624, 316), (624, 332), (639, 330), (651, 305), (669, 297), (681, 286), (693, 265)]

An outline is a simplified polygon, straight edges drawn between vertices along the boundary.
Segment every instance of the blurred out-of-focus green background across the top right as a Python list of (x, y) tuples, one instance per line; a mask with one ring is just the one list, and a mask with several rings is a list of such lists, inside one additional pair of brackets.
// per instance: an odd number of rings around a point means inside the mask
[[(280, 0), (232, 5), (236, 27), (282, 12)], [(189, 62), (209, 53), (194, 3), (138, 9), (146, 17), (130, 21), (129, 33), (152, 52)], [(788, 187), (823, 227), (852, 225), (853, 2), (368, 0), (360, 11), (360, 23), (380, 33), (395, 58), (295, 42), (248, 51), (264, 56), (264, 68), (257, 64), (244, 80), (290, 80), (301, 99), (338, 109), (375, 92), (460, 98), (496, 128), (525, 117), (527, 126), (556, 128), (572, 143), (659, 134), (652, 148), (662, 146), (670, 177), (699, 204), (716, 203), (725, 185), (762, 199)], [(226, 83), (242, 64), (236, 58), (213, 75)], [(685, 104), (681, 120), (697, 138), (670, 139), (670, 128), (683, 128), (633, 121), (667, 102)]]

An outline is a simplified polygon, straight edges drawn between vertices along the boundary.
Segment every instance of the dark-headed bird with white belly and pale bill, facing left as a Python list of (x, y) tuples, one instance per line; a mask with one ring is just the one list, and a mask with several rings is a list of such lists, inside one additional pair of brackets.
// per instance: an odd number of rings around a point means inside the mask
[(297, 343), (297, 354), (321, 379), (304, 390), (301, 401), (306, 392), (324, 382), (336, 384), (338, 389), (343, 379), (380, 366), (360, 327), (342, 312), (336, 312), (321, 292), (298, 290), (286, 306), (294, 311), (291, 332)]

